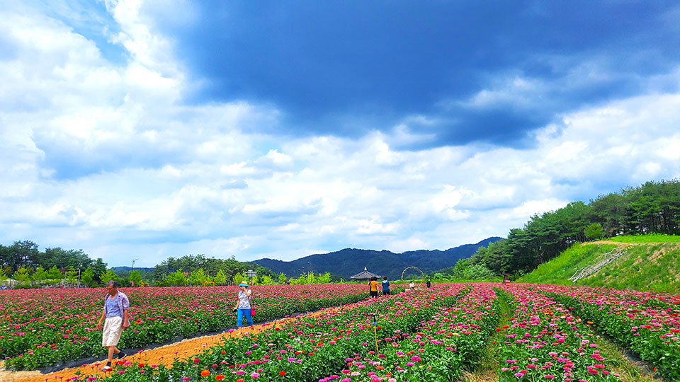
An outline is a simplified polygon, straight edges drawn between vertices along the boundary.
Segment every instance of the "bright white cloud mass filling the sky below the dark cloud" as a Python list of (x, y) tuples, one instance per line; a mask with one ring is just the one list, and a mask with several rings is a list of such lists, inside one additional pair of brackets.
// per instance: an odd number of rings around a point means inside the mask
[[(0, 243), (83, 248), (112, 265), (143, 255), (146, 266), (186, 253), (443, 250), (595, 197), (584, 191), (594, 183), (612, 192), (680, 177), (672, 93), (569, 112), (528, 149), (399, 150), (431, 141), (412, 129), (436, 124), (426, 115), (357, 139), (254, 133), (272, 131), (257, 127), (276, 127), (283, 111), (183, 104), (195, 84), (155, 30), (153, 7), (106, 6), (120, 26), (109, 37), (129, 54), (123, 64), (63, 21), (0, 12), (15, 51), (0, 58)], [(579, 73), (601, 75), (598, 66)], [(469, 102), (521, 104), (535, 91), (545, 84), (512, 75)]]

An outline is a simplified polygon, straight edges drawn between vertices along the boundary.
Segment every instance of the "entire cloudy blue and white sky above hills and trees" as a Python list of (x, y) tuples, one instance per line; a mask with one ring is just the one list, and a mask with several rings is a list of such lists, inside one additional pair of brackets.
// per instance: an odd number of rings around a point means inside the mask
[(680, 178), (676, 1), (0, 4), (0, 244), (445, 250)]

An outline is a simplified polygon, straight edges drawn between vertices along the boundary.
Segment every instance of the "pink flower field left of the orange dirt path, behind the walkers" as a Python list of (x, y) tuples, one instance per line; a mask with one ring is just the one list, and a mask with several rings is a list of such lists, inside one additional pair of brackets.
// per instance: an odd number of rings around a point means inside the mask
[[(125, 288), (132, 326), (121, 347), (140, 348), (179, 337), (223, 330), (236, 323), (237, 287)], [(258, 286), (253, 288), (262, 322), (291, 313), (360, 301), (363, 285)], [(13, 369), (37, 369), (101, 356), (105, 289), (0, 291), (0, 357)]]

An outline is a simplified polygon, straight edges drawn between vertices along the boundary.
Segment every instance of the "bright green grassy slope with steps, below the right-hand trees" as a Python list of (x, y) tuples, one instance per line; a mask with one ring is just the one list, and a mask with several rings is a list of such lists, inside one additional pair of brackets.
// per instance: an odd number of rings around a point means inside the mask
[[(605, 254), (615, 248), (625, 250), (625, 254), (589, 277), (576, 283), (569, 280), (583, 267), (604, 260)], [(622, 236), (608, 241), (576, 244), (517, 282), (640, 291), (653, 289), (680, 294), (680, 236)]]

